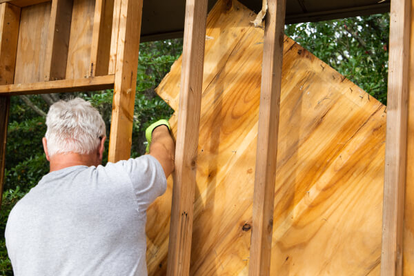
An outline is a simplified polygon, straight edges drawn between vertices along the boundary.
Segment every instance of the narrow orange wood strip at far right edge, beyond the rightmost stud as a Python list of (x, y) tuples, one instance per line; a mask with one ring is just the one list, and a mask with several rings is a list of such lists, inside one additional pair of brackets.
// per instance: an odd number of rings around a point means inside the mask
[[(414, 1), (411, 1), (409, 76), (414, 75)], [(414, 276), (414, 79), (408, 79), (406, 186), (404, 199), (403, 273)]]

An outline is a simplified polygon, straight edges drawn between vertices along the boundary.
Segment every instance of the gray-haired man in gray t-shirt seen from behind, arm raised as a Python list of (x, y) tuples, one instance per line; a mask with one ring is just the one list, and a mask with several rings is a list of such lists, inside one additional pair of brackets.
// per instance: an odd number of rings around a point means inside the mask
[(59, 101), (46, 125), (50, 172), (14, 206), (6, 226), (14, 274), (147, 275), (146, 209), (174, 169), (168, 122), (148, 128), (149, 155), (106, 166), (105, 124), (90, 103)]

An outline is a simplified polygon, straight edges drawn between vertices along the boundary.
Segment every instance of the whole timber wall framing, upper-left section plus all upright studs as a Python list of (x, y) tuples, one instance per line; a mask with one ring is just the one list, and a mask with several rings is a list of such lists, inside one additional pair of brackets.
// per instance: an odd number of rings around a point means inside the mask
[[(108, 159), (129, 157), (142, 3), (0, 0), (0, 190), (12, 95), (113, 88)], [(277, 181), (277, 143), (272, 141), (277, 141), (279, 122), (285, 7), (286, 0), (268, 1), (249, 275), (269, 275), (270, 270), (272, 196)], [(405, 275), (404, 263), (414, 262), (406, 246), (413, 229), (404, 224), (414, 211), (408, 204), (414, 197), (414, 97), (409, 77), (414, 73), (413, 9), (414, 1), (391, 1), (383, 276)], [(207, 0), (186, 1), (168, 275), (189, 274), (206, 10)], [(90, 19), (87, 28), (80, 28), (86, 18)]]

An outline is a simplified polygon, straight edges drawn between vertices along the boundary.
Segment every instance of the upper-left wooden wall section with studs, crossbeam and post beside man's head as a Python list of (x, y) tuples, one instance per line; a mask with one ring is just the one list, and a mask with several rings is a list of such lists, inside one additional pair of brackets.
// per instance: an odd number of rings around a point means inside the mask
[(108, 159), (129, 157), (141, 10), (132, 0), (0, 0), (0, 187), (10, 95), (114, 88), (110, 150), (117, 154)]

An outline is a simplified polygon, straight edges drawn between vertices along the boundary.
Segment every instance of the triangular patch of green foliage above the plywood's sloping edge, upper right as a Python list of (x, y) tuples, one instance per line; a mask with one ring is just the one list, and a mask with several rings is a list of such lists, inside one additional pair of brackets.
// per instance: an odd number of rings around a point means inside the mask
[(286, 35), (386, 104), (389, 14), (288, 25)]

